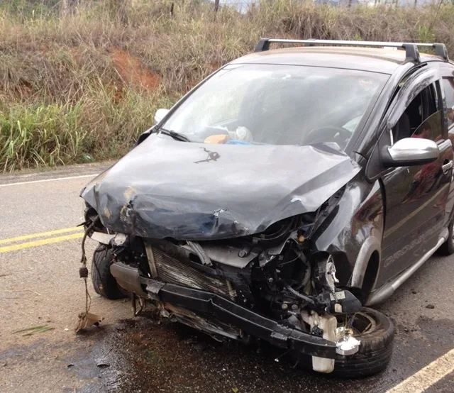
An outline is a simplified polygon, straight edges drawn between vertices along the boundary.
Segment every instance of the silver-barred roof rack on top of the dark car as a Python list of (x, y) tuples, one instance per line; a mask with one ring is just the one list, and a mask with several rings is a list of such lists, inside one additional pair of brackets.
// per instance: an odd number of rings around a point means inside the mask
[(260, 38), (260, 41), (255, 46), (255, 52), (263, 52), (270, 49), (270, 44), (282, 43), (282, 44), (304, 44), (304, 46), (314, 45), (338, 45), (338, 46), (362, 46), (362, 47), (379, 47), (379, 48), (402, 48), (406, 53), (406, 60), (419, 62), (419, 50), (418, 47), (433, 48), (435, 49), (435, 55), (448, 61), (448, 50), (445, 44), (439, 43), (387, 43), (378, 41), (341, 41), (341, 40), (285, 40), (281, 38)]

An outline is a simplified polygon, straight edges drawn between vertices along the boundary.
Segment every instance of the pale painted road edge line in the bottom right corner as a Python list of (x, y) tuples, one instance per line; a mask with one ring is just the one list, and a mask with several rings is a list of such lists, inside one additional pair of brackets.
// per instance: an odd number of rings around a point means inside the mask
[(431, 364), (421, 368), (416, 374), (411, 375), (386, 393), (423, 393), (429, 387), (454, 371), (454, 349)]

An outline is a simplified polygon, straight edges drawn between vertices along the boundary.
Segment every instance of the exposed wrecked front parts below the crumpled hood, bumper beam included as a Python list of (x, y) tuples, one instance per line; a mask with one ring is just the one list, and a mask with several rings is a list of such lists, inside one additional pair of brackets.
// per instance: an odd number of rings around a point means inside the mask
[(314, 213), (222, 240), (111, 233), (91, 208), (86, 226), (113, 251), (110, 269), (118, 284), (154, 301), (163, 315), (215, 338), (258, 338), (311, 355), (314, 370), (331, 372), (336, 353), (351, 355), (360, 345), (349, 326), (360, 301), (336, 287), (331, 255), (311, 242), (338, 196)]

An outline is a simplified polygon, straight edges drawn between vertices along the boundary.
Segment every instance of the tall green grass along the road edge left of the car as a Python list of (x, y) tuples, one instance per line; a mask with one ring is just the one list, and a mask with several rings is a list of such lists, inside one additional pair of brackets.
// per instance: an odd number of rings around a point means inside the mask
[(121, 102), (94, 89), (74, 104), (10, 104), (0, 114), (0, 170), (119, 157), (171, 102), (126, 90)]

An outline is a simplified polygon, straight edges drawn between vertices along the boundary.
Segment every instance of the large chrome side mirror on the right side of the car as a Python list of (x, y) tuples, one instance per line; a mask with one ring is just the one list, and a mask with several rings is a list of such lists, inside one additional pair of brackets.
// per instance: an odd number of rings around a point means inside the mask
[(438, 145), (430, 139), (404, 138), (382, 150), (384, 167), (424, 165), (437, 160)]

